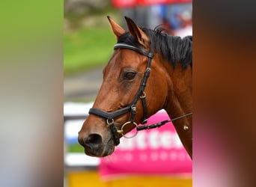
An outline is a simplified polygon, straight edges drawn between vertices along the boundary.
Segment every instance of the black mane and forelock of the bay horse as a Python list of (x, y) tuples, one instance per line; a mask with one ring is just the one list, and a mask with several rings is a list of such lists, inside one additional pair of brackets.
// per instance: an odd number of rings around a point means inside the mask
[[(164, 29), (141, 28), (144, 33), (150, 37), (153, 50), (160, 53), (163, 58), (168, 60), (174, 67), (180, 62), (183, 68), (192, 66), (192, 36), (177, 37), (162, 33)], [(129, 32), (118, 38), (118, 43), (127, 43), (128, 45), (141, 48)]]

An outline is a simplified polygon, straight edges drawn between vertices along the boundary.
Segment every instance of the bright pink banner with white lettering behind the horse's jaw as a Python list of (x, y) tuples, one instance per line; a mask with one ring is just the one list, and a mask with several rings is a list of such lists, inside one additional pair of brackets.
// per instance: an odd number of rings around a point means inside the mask
[[(148, 124), (167, 119), (168, 114), (159, 111), (148, 119)], [(115, 152), (100, 160), (100, 174), (192, 174), (192, 160), (170, 122), (140, 131), (134, 138), (121, 138)]]

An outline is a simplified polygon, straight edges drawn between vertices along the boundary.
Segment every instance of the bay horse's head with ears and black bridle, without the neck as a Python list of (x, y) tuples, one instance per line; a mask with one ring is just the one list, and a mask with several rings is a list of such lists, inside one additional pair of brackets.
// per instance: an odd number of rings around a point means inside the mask
[(127, 17), (125, 31), (108, 16), (118, 43), (103, 70), (103, 84), (79, 131), (89, 156), (108, 156), (127, 132), (163, 108), (171, 80), (150, 37)]

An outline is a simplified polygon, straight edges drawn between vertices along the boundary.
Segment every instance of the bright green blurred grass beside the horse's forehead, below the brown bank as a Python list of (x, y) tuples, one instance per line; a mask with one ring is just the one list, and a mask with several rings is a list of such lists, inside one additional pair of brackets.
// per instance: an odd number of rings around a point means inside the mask
[(82, 28), (65, 34), (64, 76), (107, 64), (114, 44), (115, 36), (109, 27)]

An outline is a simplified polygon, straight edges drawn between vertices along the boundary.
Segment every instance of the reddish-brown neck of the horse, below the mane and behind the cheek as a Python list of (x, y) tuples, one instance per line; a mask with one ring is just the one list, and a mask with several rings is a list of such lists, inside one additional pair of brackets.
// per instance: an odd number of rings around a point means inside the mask
[[(186, 70), (177, 63), (172, 67), (164, 63), (168, 73), (168, 96), (165, 100), (165, 111), (171, 119), (192, 112), (192, 67)], [(172, 122), (189, 156), (192, 158), (192, 115)]]

